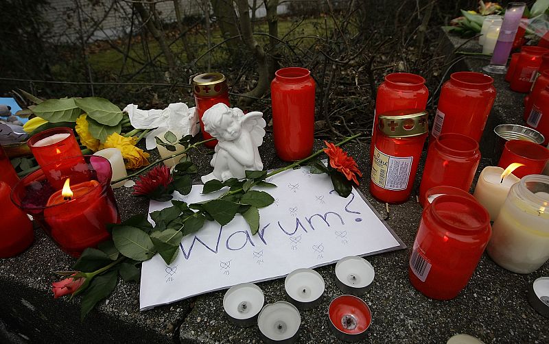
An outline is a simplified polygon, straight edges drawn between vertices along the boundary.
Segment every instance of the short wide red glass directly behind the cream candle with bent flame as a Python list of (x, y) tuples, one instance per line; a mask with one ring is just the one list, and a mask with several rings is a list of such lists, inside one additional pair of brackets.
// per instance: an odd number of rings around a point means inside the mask
[(530, 174), (541, 174), (549, 161), (549, 149), (526, 140), (509, 140), (505, 143), (498, 166), (506, 169), (513, 162), (524, 166), (517, 167), (513, 174), (519, 178)]

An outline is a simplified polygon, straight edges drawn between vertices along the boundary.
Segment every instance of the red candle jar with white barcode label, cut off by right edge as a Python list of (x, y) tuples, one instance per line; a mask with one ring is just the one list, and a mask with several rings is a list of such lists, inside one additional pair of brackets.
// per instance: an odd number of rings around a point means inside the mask
[[(540, 132), (545, 137), (543, 145), (547, 145), (549, 143), (549, 71), (544, 71), (544, 74), (537, 78), (536, 86), (538, 83), (547, 83), (547, 85), (538, 95), (533, 91), (530, 94), (530, 98), (534, 100), (526, 117), (526, 125)], [(525, 114), (526, 111), (528, 108)]]

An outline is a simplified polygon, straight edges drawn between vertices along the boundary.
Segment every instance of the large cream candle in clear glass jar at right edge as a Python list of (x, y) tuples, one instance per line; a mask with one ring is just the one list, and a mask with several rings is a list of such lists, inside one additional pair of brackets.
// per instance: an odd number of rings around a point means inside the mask
[(549, 177), (526, 175), (511, 191), (493, 223), (487, 248), (500, 267), (531, 273), (549, 259)]

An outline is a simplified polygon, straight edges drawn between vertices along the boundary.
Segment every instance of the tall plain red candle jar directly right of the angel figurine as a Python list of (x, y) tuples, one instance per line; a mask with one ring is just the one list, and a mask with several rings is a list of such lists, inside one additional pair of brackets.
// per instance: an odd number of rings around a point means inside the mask
[(305, 68), (283, 68), (270, 84), (274, 148), (285, 161), (303, 159), (313, 150), (316, 86), (310, 74)]

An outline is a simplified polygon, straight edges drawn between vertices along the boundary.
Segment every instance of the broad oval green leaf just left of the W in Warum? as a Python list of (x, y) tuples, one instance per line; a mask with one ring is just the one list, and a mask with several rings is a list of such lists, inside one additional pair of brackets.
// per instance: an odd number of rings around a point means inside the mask
[(139, 228), (128, 225), (113, 228), (113, 241), (121, 254), (135, 260), (149, 260), (156, 253), (148, 234)]

